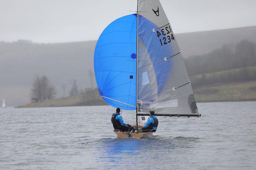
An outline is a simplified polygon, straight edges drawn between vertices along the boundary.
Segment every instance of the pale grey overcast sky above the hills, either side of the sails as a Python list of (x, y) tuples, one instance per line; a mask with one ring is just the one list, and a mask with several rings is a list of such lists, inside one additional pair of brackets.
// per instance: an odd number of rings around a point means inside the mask
[[(174, 33), (256, 26), (256, 0), (160, 0)], [(0, 41), (97, 40), (137, 0), (0, 0)]]

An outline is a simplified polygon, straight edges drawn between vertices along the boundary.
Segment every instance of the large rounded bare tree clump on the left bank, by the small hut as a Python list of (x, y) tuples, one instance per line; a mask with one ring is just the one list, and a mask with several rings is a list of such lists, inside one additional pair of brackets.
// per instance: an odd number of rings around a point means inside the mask
[(31, 89), (31, 98), (36, 97), (39, 101), (53, 99), (56, 89), (46, 76), (36, 76)]

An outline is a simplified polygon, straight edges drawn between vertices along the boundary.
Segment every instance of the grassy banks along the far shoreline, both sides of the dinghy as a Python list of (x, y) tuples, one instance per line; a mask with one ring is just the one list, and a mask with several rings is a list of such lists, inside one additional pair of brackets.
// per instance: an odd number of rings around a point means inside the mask
[[(195, 99), (197, 102), (214, 102), (214, 101), (249, 101), (256, 100), (256, 81), (237, 82), (230, 84), (213, 84), (204, 85), (194, 88)], [(39, 103), (18, 106), (24, 107), (65, 107), (65, 106), (90, 106), (106, 105), (103, 100), (98, 98), (83, 102), (83, 96), (69, 96), (60, 99), (47, 100)]]

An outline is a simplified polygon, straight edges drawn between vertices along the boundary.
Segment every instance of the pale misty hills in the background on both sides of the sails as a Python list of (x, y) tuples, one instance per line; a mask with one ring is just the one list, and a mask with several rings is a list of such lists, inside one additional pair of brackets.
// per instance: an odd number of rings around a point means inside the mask
[[(256, 26), (176, 34), (183, 57), (209, 53), (224, 44), (236, 44), (247, 39), (256, 42)], [(58, 97), (61, 84), (71, 88), (76, 79), (79, 89), (91, 87), (88, 70), (93, 69), (96, 41), (40, 44), (19, 40), (0, 42), (0, 100), (7, 106), (30, 101), (29, 91), (33, 78), (46, 75), (56, 86)], [(95, 81), (93, 82), (95, 87)]]

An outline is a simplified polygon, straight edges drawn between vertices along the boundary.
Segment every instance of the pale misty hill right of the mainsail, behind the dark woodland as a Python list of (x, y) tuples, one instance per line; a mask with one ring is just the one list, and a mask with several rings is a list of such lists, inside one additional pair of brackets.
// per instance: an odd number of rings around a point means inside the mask
[(231, 28), (176, 35), (184, 58), (209, 53), (225, 44), (236, 44), (244, 39), (256, 42), (256, 26)]

